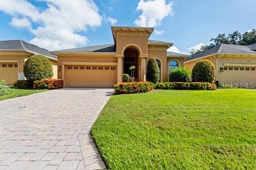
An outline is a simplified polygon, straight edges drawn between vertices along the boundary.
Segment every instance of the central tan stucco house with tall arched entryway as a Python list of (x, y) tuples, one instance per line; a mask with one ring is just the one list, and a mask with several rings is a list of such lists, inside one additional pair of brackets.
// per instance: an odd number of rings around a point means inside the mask
[(160, 81), (168, 81), (170, 68), (183, 66), (189, 55), (168, 52), (173, 43), (149, 40), (154, 28), (112, 26), (114, 44), (52, 51), (58, 56), (58, 78), (65, 87), (113, 87), (122, 74), (145, 81), (146, 66), (154, 57), (160, 67)]

